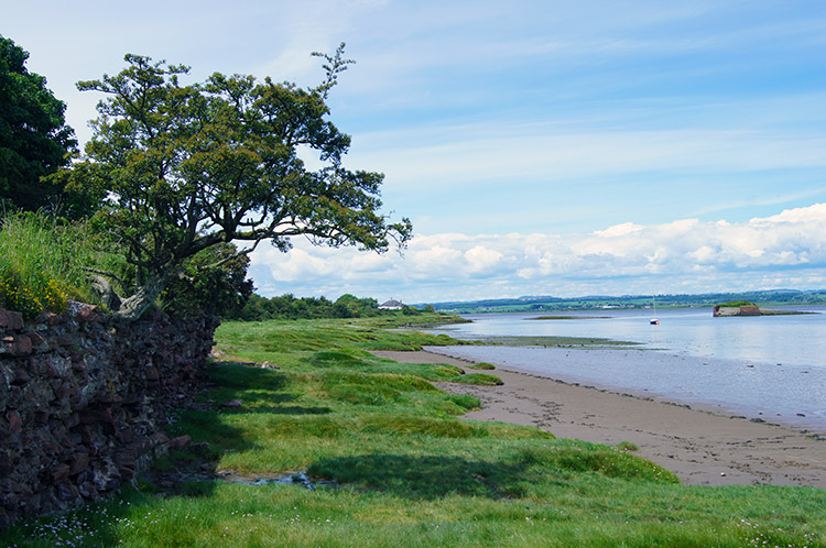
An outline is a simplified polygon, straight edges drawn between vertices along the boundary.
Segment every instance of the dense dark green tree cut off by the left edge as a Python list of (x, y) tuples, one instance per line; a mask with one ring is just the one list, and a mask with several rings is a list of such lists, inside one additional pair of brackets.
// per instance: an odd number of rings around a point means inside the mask
[(66, 106), (25, 68), (29, 53), (0, 36), (0, 199), (33, 211), (62, 190), (42, 177), (68, 165), (77, 142)]

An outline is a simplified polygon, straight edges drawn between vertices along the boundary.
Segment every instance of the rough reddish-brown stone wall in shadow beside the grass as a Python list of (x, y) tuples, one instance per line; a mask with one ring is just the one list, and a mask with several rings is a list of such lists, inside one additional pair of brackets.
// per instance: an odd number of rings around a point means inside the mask
[(203, 385), (217, 326), (78, 303), (24, 326), (0, 308), (0, 528), (91, 502), (185, 445), (163, 434), (164, 409)]

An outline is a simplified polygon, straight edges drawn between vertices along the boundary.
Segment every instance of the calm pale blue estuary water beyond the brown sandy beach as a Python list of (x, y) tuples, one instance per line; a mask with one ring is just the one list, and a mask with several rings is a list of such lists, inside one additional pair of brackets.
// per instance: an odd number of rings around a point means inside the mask
[[(430, 350), (567, 382), (826, 431), (826, 307), (815, 314), (714, 318), (710, 308), (467, 315), (434, 332), (458, 339), (594, 337), (638, 343), (593, 349), (447, 347)], [(555, 314), (555, 313), (554, 313)]]

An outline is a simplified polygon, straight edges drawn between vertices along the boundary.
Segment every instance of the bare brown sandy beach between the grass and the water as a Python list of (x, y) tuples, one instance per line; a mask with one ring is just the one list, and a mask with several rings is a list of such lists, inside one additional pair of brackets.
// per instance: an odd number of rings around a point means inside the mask
[[(373, 352), (401, 363), (471, 363), (426, 351)], [(443, 383), (472, 394), (482, 409), (472, 420), (536, 426), (559, 438), (606, 445), (630, 441), (640, 457), (676, 473), (686, 485), (806, 485), (826, 487), (826, 438), (792, 427), (681, 407), (609, 390), (577, 386), (514, 368), (497, 366), (501, 386)]]

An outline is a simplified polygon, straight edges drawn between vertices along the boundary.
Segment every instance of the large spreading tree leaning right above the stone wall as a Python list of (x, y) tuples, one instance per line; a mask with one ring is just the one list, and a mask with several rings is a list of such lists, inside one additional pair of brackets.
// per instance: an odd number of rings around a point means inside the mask
[[(107, 196), (98, 217), (134, 267), (120, 316), (139, 317), (188, 257), (221, 242), (249, 242), (241, 253), (264, 240), (287, 251), (295, 235), (378, 252), (406, 243), (410, 221), (379, 212), (383, 175), (346, 169), (350, 138), (326, 120), (327, 95), (351, 63), (343, 54), (344, 44), (314, 54), (326, 78), (309, 89), (218, 73), (183, 85), (187, 67), (138, 55), (116, 76), (78, 84), (107, 96), (69, 178)], [(300, 149), (323, 166), (308, 169)]]

